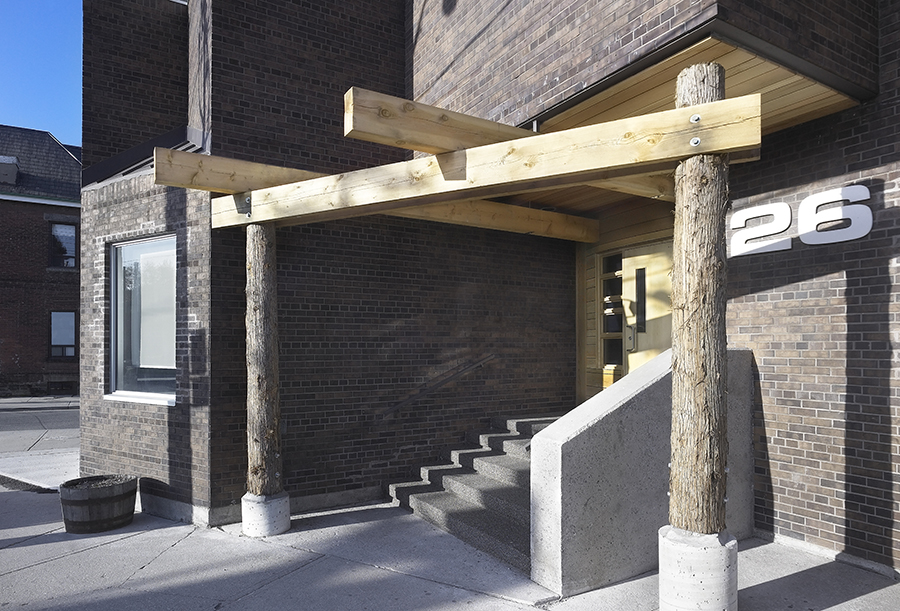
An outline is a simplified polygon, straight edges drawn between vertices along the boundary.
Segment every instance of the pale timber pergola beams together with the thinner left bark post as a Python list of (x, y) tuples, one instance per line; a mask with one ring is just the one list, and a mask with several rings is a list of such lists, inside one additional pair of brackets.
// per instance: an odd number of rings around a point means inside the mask
[[(547, 134), (356, 88), (345, 95), (344, 112), (346, 136), (427, 155), (321, 175), (154, 151), (157, 184), (225, 194), (212, 199), (212, 228), (247, 227), (248, 495), (254, 498), (286, 500), (276, 227), (388, 214), (593, 243), (600, 235), (598, 218), (517, 202), (574, 185), (674, 199), (674, 171), (681, 160), (725, 153), (751, 160), (761, 141), (758, 94)], [(289, 528), (289, 514), (287, 526), (283, 517), (278, 521), (248, 534)]]

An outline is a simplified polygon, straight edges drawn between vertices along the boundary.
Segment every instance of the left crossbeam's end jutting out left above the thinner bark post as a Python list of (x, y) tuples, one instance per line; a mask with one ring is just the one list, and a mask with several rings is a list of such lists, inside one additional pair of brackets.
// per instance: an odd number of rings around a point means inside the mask
[(306, 170), (165, 148), (153, 149), (153, 173), (158, 185), (216, 193), (243, 193), (325, 176)]

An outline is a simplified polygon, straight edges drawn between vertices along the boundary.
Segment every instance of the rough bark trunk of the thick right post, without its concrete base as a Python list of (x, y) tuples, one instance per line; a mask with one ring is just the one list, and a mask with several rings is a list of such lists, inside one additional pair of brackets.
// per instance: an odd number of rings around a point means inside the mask
[[(725, 71), (717, 64), (692, 66), (678, 76), (678, 108), (724, 97)], [(699, 121), (702, 120), (701, 116)], [(698, 155), (678, 166), (672, 277), (669, 523), (702, 534), (725, 530), (728, 206), (725, 155)]]

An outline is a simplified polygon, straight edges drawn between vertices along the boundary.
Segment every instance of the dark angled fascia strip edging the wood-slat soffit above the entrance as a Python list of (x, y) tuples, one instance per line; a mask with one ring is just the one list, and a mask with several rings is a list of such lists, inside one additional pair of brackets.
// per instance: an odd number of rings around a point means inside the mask
[(700, 25), (699, 27), (691, 30), (690, 32), (687, 32), (684, 35), (679, 36), (675, 40), (663, 45), (656, 51), (652, 51), (651, 53), (638, 59), (635, 62), (632, 62), (624, 68), (621, 68), (613, 72), (612, 74), (600, 79), (594, 84), (585, 87), (575, 95), (551, 106), (550, 108), (544, 110), (536, 116), (528, 119), (524, 123), (519, 124), (518, 127), (524, 129), (533, 129), (535, 123), (537, 123), (537, 125), (539, 126), (547, 119), (555, 117), (556, 115), (569, 110), (573, 106), (577, 106), (585, 100), (597, 95), (601, 91), (604, 91), (609, 87), (612, 87), (613, 85), (624, 81), (625, 79), (631, 78), (642, 70), (654, 66), (655, 64), (671, 55), (684, 51), (685, 49), (697, 44), (698, 42), (706, 38), (715, 38), (716, 40), (720, 40), (736, 47), (746, 49), (747, 51), (755, 53), (760, 57), (779, 64), (780, 66), (783, 66), (788, 70), (792, 70), (798, 74), (807, 76), (819, 83), (822, 83), (823, 85), (831, 87), (832, 89), (853, 98), (857, 102), (870, 100), (878, 95), (878, 91), (873, 91), (856, 83), (848, 81), (847, 79), (838, 76), (833, 72), (829, 72), (828, 70), (825, 70), (824, 68), (817, 66), (810, 61), (801, 59), (796, 55), (785, 51), (784, 49), (776, 47), (775, 45), (761, 40), (756, 36), (753, 36), (752, 34), (731, 25), (730, 23), (725, 23), (721, 19), (714, 17), (706, 23)]

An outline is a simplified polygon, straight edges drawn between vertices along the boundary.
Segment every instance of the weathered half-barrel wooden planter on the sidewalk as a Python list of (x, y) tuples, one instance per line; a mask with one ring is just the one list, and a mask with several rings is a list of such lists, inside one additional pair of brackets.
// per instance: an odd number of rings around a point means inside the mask
[(131, 524), (137, 478), (132, 475), (95, 475), (59, 486), (66, 532), (98, 533)]

